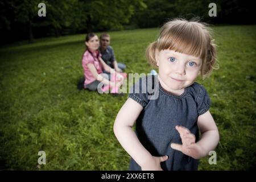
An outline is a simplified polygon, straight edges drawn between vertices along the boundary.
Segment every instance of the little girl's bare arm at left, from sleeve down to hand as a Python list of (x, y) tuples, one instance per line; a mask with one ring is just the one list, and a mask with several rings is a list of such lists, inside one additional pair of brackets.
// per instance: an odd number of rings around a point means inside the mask
[(143, 107), (128, 98), (115, 118), (114, 134), (126, 152), (141, 166), (142, 170), (162, 170), (160, 162), (167, 160), (166, 156), (155, 157), (143, 147), (132, 127)]

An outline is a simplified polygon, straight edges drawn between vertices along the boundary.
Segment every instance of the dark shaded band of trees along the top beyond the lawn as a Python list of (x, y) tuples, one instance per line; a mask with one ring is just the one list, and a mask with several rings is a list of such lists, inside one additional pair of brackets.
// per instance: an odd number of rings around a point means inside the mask
[[(46, 17), (38, 4), (46, 4)], [(217, 5), (217, 16), (208, 16), (208, 5)], [(3, 0), (0, 2), (1, 44), (46, 36), (92, 31), (159, 27), (168, 18), (200, 16), (211, 24), (254, 24), (253, 1), (211, 0)]]

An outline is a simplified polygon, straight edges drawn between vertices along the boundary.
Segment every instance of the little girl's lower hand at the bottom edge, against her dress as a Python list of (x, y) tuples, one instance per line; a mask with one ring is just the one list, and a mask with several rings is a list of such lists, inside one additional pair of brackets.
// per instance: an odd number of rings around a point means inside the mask
[(142, 171), (163, 171), (160, 166), (161, 162), (164, 162), (168, 159), (168, 156), (152, 156), (152, 160), (148, 161), (144, 166), (141, 166)]

